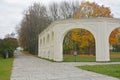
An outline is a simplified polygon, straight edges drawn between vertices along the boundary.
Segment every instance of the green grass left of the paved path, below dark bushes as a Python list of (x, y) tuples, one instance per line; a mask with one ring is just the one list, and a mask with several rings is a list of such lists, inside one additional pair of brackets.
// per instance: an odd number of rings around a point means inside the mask
[(0, 59), (0, 80), (10, 80), (13, 58)]

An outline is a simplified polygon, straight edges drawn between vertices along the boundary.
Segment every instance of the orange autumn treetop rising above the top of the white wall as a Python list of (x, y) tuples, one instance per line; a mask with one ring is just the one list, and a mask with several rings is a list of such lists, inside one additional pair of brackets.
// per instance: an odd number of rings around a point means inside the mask
[(109, 7), (100, 6), (95, 2), (82, 2), (74, 18), (81, 17), (113, 17)]

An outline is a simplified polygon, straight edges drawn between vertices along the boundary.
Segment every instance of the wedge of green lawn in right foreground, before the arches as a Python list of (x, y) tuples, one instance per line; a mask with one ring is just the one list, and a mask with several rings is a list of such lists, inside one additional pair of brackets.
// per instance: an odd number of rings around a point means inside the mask
[(116, 77), (120, 79), (120, 64), (78, 66), (80, 69)]

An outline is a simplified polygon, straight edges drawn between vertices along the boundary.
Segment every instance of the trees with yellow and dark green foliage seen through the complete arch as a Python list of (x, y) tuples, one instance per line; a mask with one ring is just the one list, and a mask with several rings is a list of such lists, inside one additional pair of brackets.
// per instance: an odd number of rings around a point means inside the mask
[[(93, 49), (95, 49), (95, 39), (94, 36), (85, 29), (73, 29), (66, 35), (64, 40), (64, 46), (65, 45), (68, 45), (69, 47), (67, 48), (70, 50), (94, 53)], [(72, 48), (70, 48), (70, 45)]]

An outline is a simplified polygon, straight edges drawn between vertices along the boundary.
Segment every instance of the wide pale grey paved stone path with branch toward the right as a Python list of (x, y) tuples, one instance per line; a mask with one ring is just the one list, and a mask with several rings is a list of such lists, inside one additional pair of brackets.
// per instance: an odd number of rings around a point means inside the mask
[(49, 62), (17, 51), (11, 80), (119, 80), (74, 67), (86, 64), (95, 65), (101, 63)]

